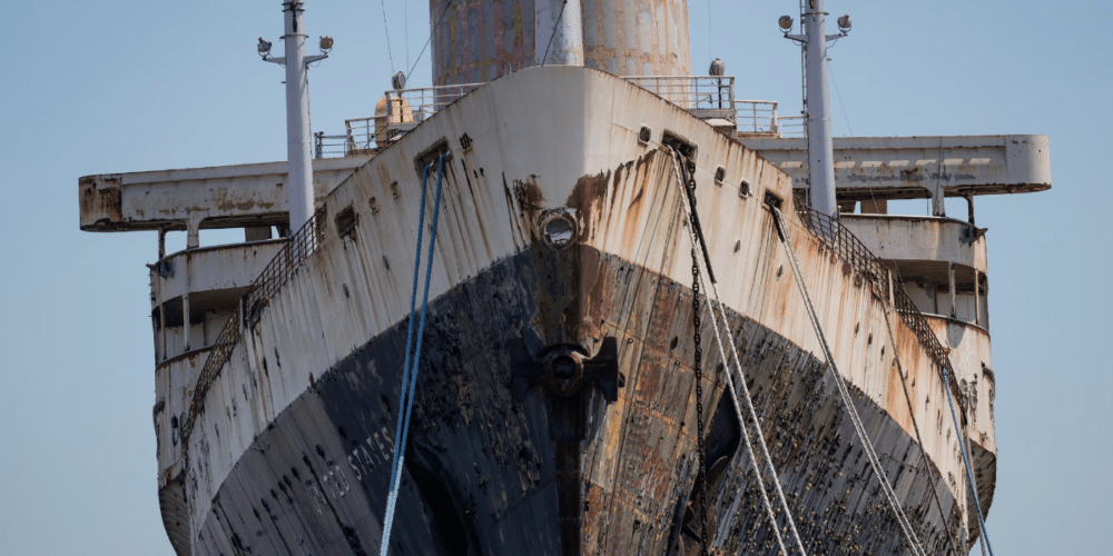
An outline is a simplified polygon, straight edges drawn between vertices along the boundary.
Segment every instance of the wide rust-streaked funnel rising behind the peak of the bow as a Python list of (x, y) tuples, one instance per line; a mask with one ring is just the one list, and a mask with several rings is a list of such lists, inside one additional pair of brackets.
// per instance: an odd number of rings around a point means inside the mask
[(688, 0), (430, 0), (430, 21), (435, 86), (542, 63), (691, 75)]

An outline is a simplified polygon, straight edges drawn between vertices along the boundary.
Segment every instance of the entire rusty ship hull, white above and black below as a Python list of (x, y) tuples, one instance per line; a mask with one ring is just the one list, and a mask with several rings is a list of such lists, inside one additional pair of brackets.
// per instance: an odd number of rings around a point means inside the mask
[[(788, 210), (791, 179), (644, 89), (549, 67), (487, 83), (356, 167), (318, 199), (309, 252), (290, 262), (277, 251), (290, 269), (280, 287), (224, 317), (236, 334), (160, 365), (159, 496), (178, 553), (378, 550), (420, 168), (449, 152), (392, 553), (684, 554), (706, 543), (777, 554), (709, 319), (709, 457), (697, 465), (691, 245), (668, 150), (681, 143), (758, 426), (809, 553), (907, 547), (818, 355), (770, 199), (786, 207), (802, 278), (823, 292), (839, 368), (917, 535), (933, 554), (964, 552), (976, 528), (959, 440), (942, 418), (951, 385), (892, 299)], [(546, 238), (558, 212), (572, 221), (569, 245)], [(545, 369), (560, 349), (601, 370), (553, 384)], [(969, 428), (992, 494), (992, 415)], [(691, 527), (703, 480), (707, 539)]]

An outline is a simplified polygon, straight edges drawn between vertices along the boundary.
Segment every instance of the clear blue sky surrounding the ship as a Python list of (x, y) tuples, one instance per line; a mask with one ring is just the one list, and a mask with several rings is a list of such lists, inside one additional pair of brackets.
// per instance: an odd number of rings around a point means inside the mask
[[(309, 34), (336, 39), (311, 72), (314, 131), (372, 115), (407, 43), (417, 59), (427, 3), (386, 3), (390, 53), (378, 1), (306, 1)], [(691, 0), (696, 69), (710, 52), (737, 76), (740, 98), (798, 111), (799, 53), (776, 28), (797, 2), (711, 4), (708, 32), (707, 2)], [(1113, 9), (827, 8), (854, 18), (830, 51), (836, 135), (1051, 137), (1051, 191), (976, 203), (989, 228), (997, 377), (988, 527), (1002, 556), (1110, 554)], [(10, 193), (0, 201), (0, 555), (173, 554), (151, 425), (144, 264), (156, 235), (79, 231), (77, 182), (283, 160), (284, 76), (255, 53), (259, 36), (279, 47), (280, 34), (279, 0), (0, 1), (0, 181)], [(429, 82), (426, 52), (411, 86)]]

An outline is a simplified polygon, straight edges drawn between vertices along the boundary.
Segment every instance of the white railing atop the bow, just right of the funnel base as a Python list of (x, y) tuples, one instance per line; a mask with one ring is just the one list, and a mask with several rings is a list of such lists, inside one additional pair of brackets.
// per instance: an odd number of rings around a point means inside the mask
[(733, 122), (735, 78), (732, 76), (626, 76), (622, 79), (692, 112)]

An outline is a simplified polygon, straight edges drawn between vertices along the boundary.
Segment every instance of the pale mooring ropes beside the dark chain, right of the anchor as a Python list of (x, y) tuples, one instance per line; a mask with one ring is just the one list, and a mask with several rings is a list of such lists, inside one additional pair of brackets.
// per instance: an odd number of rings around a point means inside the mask
[[(670, 148), (670, 150), (672, 150), (672, 170), (673, 170), (673, 172), (677, 176), (677, 186), (680, 188), (680, 193), (681, 195), (687, 195), (687, 191), (684, 190), (684, 186), (683, 186), (683, 182), (682, 182), (683, 178), (681, 177), (680, 166), (679, 166), (679, 162), (677, 161), (677, 158), (679, 157), (679, 155), (677, 153), (677, 151), (674, 149)], [(681, 200), (680, 205), (684, 208), (684, 218), (689, 222), (695, 221), (695, 219), (693, 219), (695, 215), (690, 214), (688, 205), (686, 205), (682, 200)], [(702, 248), (703, 252), (707, 254), (707, 246), (706, 246), (706, 244), (703, 244), (702, 241), (700, 241), (700, 235), (701, 235), (700, 231), (701, 230), (697, 230), (696, 229), (695, 225), (688, 227), (688, 235), (691, 238), (693, 250), (695, 250), (696, 246), (700, 246)], [(695, 262), (695, 260), (698, 259), (698, 255), (696, 252), (692, 254), (692, 259), (693, 259), (693, 262)], [(705, 256), (705, 265), (710, 265), (710, 257)], [(710, 269), (708, 269), (708, 275), (709, 275), (709, 277), (713, 278), (713, 275), (711, 274)], [(702, 280), (703, 280), (703, 277), (700, 276), (700, 281), (702, 282)], [(706, 284), (705, 284), (705, 288), (703, 289), (707, 290)], [(716, 282), (715, 282), (713, 279), (711, 281), (711, 291), (715, 294), (713, 304), (709, 304), (709, 306), (711, 308), (711, 318), (713, 319), (713, 324), (715, 324), (715, 326), (712, 326), (711, 329), (715, 331), (715, 341), (716, 341), (716, 344), (718, 345), (718, 348), (719, 348), (719, 357), (726, 364), (728, 360), (727, 360), (726, 353), (725, 353), (725, 350), (722, 348), (722, 338), (719, 335), (719, 314), (717, 312), (717, 309), (718, 309), (718, 311), (722, 311), (723, 309), (722, 309), (721, 302), (719, 301), (719, 288), (716, 285)], [(711, 298), (709, 298), (709, 299), (711, 299)], [(733, 364), (735, 364), (733, 370), (736, 370), (738, 373), (738, 378), (739, 378), (739, 383), (741, 383), (741, 386), (742, 386), (742, 394), (743, 394), (743, 397), (746, 399), (746, 405), (749, 408), (750, 417), (754, 419), (754, 427), (755, 427), (756, 433), (757, 433), (756, 436), (758, 438), (758, 443), (761, 446), (762, 456), (765, 457), (765, 460), (766, 460), (767, 465), (769, 466), (770, 473), (772, 475), (772, 483), (774, 483), (774, 485), (776, 487), (777, 494), (780, 497), (780, 504), (781, 504), (781, 506), (784, 508), (785, 516), (788, 518), (789, 529), (792, 532), (792, 536), (795, 537), (795, 540), (796, 540), (797, 547), (800, 550), (800, 554), (802, 554), (804, 556), (807, 556), (808, 553), (807, 553), (807, 550), (804, 549), (804, 542), (800, 539), (800, 534), (796, 529), (796, 523), (792, 520), (792, 515), (789, 512), (788, 503), (785, 499), (785, 493), (784, 493), (784, 490), (781, 489), (781, 486), (780, 486), (780, 479), (778, 478), (778, 475), (777, 475), (777, 468), (776, 468), (776, 466), (772, 463), (772, 458), (769, 456), (769, 448), (766, 445), (765, 435), (761, 433), (761, 421), (758, 420), (757, 411), (754, 409), (754, 401), (752, 401), (752, 399), (750, 397), (750, 390), (746, 386), (746, 377), (742, 375), (742, 367), (741, 367), (741, 364), (739, 363), (738, 350), (735, 349), (733, 336), (730, 334), (730, 327), (727, 324), (727, 317), (726, 317), (725, 312), (722, 315), (722, 327), (723, 327), (723, 330), (726, 331), (726, 335), (727, 335), (727, 338), (728, 338), (728, 344), (730, 345), (730, 350), (731, 350), (731, 354), (733, 356)], [(742, 437), (742, 439), (746, 443), (746, 455), (749, 458), (750, 464), (754, 466), (754, 474), (755, 474), (755, 476), (757, 478), (757, 481), (758, 481), (758, 490), (761, 492), (761, 502), (764, 503), (764, 506), (765, 506), (765, 509), (766, 509), (766, 515), (769, 517), (769, 526), (772, 529), (774, 536), (777, 539), (777, 546), (780, 547), (781, 554), (787, 555), (788, 554), (788, 549), (785, 547), (785, 539), (781, 537), (781, 535), (780, 535), (780, 527), (777, 525), (777, 516), (774, 513), (772, 504), (769, 502), (769, 495), (766, 492), (765, 479), (762, 478), (762, 475), (761, 475), (761, 465), (758, 463), (757, 456), (754, 454), (754, 445), (750, 441), (749, 430), (746, 427), (746, 419), (742, 417), (741, 408), (740, 408), (740, 406), (738, 404), (738, 390), (736, 390), (736, 388), (735, 388), (735, 380), (731, 377), (731, 366), (729, 364), (728, 365), (723, 365), (723, 368), (727, 370), (726, 371), (727, 386), (728, 386), (728, 388), (730, 388), (731, 406), (735, 409), (735, 417), (738, 418), (738, 426), (741, 429), (741, 437)], [(705, 540), (705, 544), (707, 544), (707, 540)]]

